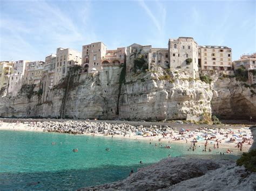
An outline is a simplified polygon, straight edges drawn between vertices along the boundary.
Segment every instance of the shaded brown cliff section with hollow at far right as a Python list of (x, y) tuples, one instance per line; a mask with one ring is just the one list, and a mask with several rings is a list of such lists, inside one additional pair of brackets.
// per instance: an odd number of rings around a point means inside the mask
[(212, 115), (221, 119), (256, 121), (256, 92), (253, 86), (233, 78), (218, 78), (212, 85)]

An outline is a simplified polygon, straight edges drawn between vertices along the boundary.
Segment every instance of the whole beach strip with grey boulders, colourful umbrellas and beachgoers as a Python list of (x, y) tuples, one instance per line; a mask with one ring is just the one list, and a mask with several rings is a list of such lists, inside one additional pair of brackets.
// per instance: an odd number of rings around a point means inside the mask
[(188, 151), (194, 151), (201, 146), (200, 149), (203, 152), (211, 152), (219, 147), (226, 147), (226, 153), (232, 153), (235, 149), (247, 151), (253, 143), (252, 133), (248, 127), (231, 129), (229, 126), (219, 126), (218, 129), (195, 129), (191, 126), (191, 129), (179, 128), (177, 130), (177, 128), (167, 125), (146, 126), (91, 121), (16, 121), (15, 123), (2, 122), (2, 124), (0, 123), (0, 129), (124, 137), (148, 140), (154, 146), (164, 146), (165, 148), (171, 148), (172, 142), (179, 142), (188, 144)]

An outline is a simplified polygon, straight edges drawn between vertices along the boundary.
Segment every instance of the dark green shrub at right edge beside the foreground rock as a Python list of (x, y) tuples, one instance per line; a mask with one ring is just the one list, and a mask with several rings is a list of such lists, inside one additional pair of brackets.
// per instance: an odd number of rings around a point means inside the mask
[(256, 172), (256, 149), (242, 153), (241, 158), (237, 160), (237, 165), (244, 165), (248, 171)]

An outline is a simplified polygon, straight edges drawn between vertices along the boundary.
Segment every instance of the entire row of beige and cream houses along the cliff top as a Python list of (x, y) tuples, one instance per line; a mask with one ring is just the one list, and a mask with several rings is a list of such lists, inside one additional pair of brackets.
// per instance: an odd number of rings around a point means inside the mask
[[(104, 67), (123, 65), (126, 73), (134, 69), (134, 59), (144, 59), (147, 69), (160, 66), (187, 71), (191, 77), (199, 76), (207, 70), (233, 75), (233, 69), (244, 66), (255, 69), (256, 53), (242, 55), (233, 62), (232, 49), (226, 46), (199, 46), (191, 37), (169, 39), (166, 48), (154, 48), (151, 45), (132, 44), (117, 49), (107, 49), (103, 42), (82, 46), (82, 52), (71, 48), (57, 48), (56, 53), (45, 57), (43, 61), (0, 62), (0, 89), (9, 87), (8, 91), (16, 91), (22, 84), (43, 84), (43, 88), (51, 89), (64, 79), (69, 68), (75, 65), (82, 67), (82, 73), (95, 73)], [(18, 85), (19, 84), (19, 85)], [(39, 87), (38, 87), (39, 88)]]

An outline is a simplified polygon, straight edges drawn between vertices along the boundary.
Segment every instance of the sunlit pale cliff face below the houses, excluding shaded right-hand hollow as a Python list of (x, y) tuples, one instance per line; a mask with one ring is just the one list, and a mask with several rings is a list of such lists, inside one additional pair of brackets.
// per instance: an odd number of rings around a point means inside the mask
[(155, 68), (126, 76), (124, 68), (73, 74), (46, 92), (45, 100), (28, 87), (15, 97), (2, 95), (0, 116), (160, 120), (211, 114), (208, 84), (177, 70)]

